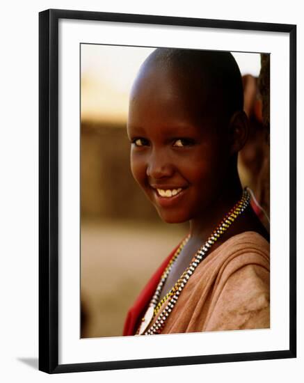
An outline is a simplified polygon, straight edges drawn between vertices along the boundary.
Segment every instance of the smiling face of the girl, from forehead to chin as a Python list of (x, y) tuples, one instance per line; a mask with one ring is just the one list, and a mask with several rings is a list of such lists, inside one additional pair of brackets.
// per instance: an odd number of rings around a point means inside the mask
[(230, 155), (216, 107), (176, 70), (147, 68), (136, 79), (127, 125), (131, 172), (163, 221), (202, 217), (220, 195)]

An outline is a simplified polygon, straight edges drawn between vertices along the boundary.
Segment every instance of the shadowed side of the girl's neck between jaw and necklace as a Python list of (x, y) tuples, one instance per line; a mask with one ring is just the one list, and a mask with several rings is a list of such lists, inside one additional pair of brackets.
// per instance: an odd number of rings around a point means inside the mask
[(221, 223), (225, 214), (241, 198), (243, 189), (237, 171), (226, 178), (221, 190), (224, 192), (214, 196), (214, 200), (204, 212), (200, 212), (198, 217), (191, 219), (190, 236), (193, 240), (207, 240), (216, 226)]

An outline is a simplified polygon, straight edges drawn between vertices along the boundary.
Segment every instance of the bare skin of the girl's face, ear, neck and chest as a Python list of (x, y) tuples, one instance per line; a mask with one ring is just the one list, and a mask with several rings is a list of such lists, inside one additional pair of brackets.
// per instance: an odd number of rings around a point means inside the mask
[[(164, 221), (190, 223), (191, 237), (175, 261), (161, 297), (243, 192), (237, 153), (247, 138), (246, 114), (237, 111), (225, 120), (223, 95), (210, 100), (210, 79), (205, 84), (205, 88), (198, 86), (195, 72), (183, 77), (173, 67), (150, 62), (141, 69), (131, 91), (127, 132), (132, 174)], [(245, 231), (269, 240), (248, 207), (211, 251)]]

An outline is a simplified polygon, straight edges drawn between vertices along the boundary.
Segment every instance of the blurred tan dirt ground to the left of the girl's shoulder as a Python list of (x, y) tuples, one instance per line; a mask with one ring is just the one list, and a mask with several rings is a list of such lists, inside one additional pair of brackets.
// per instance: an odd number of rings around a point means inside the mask
[(184, 235), (184, 225), (81, 221), (81, 337), (121, 336), (129, 306)]

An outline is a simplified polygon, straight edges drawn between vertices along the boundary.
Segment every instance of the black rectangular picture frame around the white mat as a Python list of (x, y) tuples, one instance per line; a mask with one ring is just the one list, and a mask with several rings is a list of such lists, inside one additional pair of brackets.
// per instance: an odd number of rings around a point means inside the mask
[[(58, 364), (58, 20), (195, 26), (289, 35), (289, 349), (159, 359)], [(296, 25), (45, 10), (39, 14), (39, 369), (46, 373), (179, 366), (296, 357)]]

